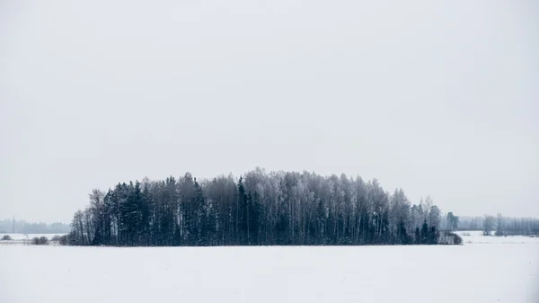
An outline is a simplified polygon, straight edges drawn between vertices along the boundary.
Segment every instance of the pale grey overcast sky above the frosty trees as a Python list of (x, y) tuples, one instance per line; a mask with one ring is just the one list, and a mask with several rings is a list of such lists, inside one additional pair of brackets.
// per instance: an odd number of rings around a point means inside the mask
[(2, 1), (0, 218), (267, 170), (539, 216), (536, 1)]

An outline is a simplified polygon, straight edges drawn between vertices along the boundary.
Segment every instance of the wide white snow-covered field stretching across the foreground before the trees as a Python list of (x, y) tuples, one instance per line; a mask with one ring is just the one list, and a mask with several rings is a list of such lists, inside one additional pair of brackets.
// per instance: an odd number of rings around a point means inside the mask
[(455, 246), (0, 245), (0, 302), (161, 301), (536, 303), (539, 238), (472, 232)]

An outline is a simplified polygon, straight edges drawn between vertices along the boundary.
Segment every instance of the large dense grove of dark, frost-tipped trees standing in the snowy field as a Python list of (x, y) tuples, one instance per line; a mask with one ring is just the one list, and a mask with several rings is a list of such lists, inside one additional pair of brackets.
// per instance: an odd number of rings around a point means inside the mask
[(440, 209), (411, 205), (378, 181), (271, 172), (239, 180), (191, 174), (93, 190), (75, 213), (70, 245), (437, 244)]

